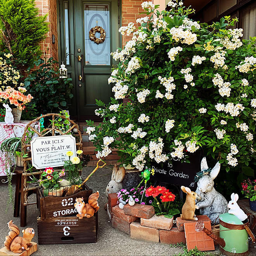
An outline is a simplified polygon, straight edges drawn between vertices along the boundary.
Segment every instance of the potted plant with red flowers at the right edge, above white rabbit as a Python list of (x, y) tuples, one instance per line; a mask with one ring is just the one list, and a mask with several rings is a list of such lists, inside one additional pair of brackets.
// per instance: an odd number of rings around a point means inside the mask
[(244, 180), (241, 183), (242, 185), (242, 194), (244, 197), (249, 199), (250, 208), (253, 211), (256, 211), (256, 180)]

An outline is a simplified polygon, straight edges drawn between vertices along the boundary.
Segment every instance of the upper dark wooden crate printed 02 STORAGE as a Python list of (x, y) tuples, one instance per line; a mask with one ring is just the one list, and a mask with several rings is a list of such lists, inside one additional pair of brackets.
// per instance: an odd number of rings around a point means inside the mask
[(56, 196), (43, 196), (40, 189), (38, 189), (38, 203), (41, 220), (47, 220), (50, 218), (70, 216), (77, 213), (74, 208), (76, 198), (83, 197), (85, 203), (88, 202), (88, 197), (92, 194), (92, 189), (89, 189), (86, 185), (84, 190), (66, 197)]

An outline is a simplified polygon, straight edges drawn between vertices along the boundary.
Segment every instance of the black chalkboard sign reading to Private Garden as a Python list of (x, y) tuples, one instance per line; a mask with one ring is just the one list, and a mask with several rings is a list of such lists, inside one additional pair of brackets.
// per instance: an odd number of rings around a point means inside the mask
[(196, 151), (195, 153), (186, 153), (189, 155), (190, 163), (181, 163), (177, 159), (172, 159), (171, 163), (157, 164), (151, 162), (151, 168), (154, 168), (155, 174), (150, 175), (151, 180), (174, 184), (178, 186), (189, 187), (195, 191), (197, 183), (194, 181), (195, 174), (201, 171), (202, 152)]

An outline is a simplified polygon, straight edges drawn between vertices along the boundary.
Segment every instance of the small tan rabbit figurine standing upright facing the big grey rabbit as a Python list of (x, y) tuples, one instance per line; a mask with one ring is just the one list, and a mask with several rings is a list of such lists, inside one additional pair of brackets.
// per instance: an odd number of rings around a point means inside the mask
[(195, 205), (195, 199), (197, 198), (197, 194), (190, 190), (188, 187), (181, 186), (181, 190), (187, 194), (185, 204), (182, 207), (182, 214), (180, 214), (180, 218), (182, 220), (198, 220), (195, 217), (195, 209), (198, 207)]

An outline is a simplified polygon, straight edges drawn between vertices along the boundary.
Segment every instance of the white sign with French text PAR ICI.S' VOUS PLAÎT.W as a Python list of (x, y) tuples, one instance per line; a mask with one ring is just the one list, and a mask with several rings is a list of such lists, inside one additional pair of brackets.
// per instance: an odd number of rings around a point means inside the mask
[(36, 169), (63, 166), (67, 151), (76, 156), (76, 139), (72, 135), (37, 137), (31, 141), (32, 165)]

